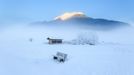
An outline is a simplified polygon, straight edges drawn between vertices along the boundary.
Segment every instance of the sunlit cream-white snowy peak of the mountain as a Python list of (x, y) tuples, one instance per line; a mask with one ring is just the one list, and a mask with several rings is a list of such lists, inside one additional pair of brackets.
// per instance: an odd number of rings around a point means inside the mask
[(68, 20), (72, 17), (86, 17), (83, 12), (66, 12), (60, 16), (57, 16), (55, 20)]

